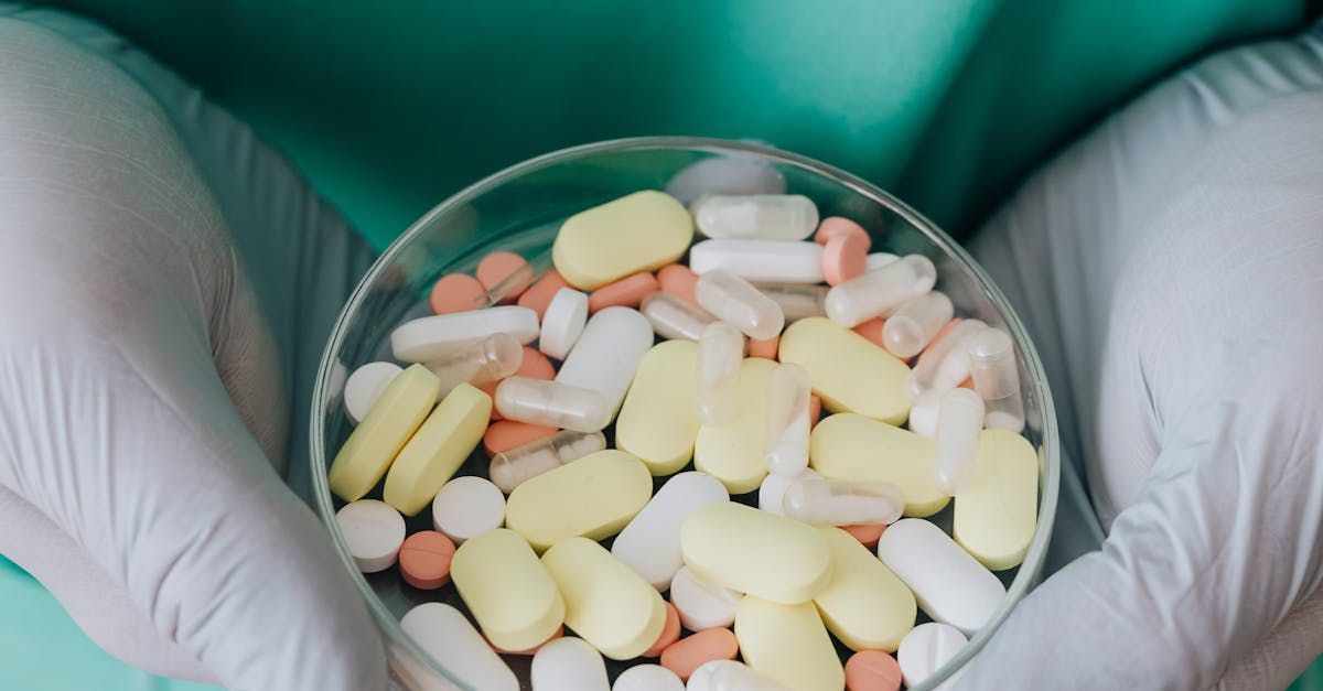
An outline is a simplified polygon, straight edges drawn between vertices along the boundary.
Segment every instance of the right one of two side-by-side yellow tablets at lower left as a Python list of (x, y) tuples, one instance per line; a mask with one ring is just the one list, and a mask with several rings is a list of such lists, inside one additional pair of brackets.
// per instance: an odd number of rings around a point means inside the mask
[(662, 635), (662, 594), (602, 545), (570, 537), (548, 549), (542, 564), (565, 598), (565, 625), (603, 655), (636, 658)]

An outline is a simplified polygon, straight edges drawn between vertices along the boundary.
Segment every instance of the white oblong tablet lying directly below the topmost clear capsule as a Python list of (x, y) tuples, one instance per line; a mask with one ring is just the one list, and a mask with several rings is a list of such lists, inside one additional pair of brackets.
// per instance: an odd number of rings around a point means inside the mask
[(704, 240), (689, 248), (689, 269), (729, 271), (745, 281), (822, 283), (823, 246), (773, 240)]

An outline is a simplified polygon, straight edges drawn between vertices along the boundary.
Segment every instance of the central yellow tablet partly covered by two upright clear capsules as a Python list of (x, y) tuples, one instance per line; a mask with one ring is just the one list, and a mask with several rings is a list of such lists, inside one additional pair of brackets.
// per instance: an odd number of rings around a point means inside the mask
[(746, 357), (740, 363), (734, 420), (699, 428), (693, 467), (721, 481), (730, 494), (751, 492), (767, 477), (767, 384), (775, 368), (771, 360)]

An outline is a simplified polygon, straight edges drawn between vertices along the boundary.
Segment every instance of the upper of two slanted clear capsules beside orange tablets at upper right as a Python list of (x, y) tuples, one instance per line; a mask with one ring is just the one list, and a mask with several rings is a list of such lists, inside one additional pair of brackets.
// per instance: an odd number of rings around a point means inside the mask
[(828, 290), (824, 303), (827, 316), (853, 328), (933, 290), (935, 283), (933, 261), (922, 254), (909, 254)]

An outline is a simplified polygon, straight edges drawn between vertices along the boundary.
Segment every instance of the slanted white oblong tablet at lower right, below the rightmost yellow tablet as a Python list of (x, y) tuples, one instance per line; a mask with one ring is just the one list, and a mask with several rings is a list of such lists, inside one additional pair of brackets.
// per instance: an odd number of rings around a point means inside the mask
[(982, 629), (1005, 598), (991, 571), (923, 519), (892, 523), (877, 541), (877, 557), (914, 592), (919, 609), (966, 635)]

